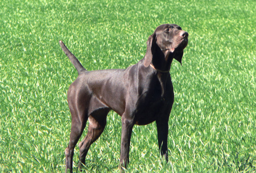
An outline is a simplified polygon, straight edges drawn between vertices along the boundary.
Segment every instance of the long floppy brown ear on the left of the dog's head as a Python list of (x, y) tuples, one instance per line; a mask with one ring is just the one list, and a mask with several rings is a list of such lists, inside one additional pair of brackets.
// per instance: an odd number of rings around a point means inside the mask
[(148, 37), (146, 41), (146, 54), (145, 54), (145, 61), (144, 66), (148, 67), (150, 66), (153, 58), (153, 54), (155, 53), (155, 44), (156, 44), (156, 34), (152, 34), (150, 37)]

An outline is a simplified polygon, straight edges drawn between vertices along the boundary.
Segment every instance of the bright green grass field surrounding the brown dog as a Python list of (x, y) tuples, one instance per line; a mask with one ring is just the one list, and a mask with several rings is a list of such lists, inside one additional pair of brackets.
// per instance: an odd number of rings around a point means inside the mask
[[(142, 59), (160, 24), (189, 33), (170, 74), (169, 162), (155, 123), (133, 129), (127, 172), (256, 171), (256, 2), (0, 1), (0, 171), (63, 172), (71, 126), (67, 90), (77, 72)], [(106, 133), (108, 132), (108, 133)], [(111, 112), (86, 172), (119, 172), (120, 117)], [(83, 136), (86, 134), (84, 132)], [(74, 170), (79, 150), (76, 147)]]

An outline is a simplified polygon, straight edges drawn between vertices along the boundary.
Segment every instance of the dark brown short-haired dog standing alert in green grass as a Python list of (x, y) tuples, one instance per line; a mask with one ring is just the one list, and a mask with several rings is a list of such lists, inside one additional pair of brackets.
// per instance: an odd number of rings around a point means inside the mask
[(181, 63), (188, 33), (174, 24), (160, 25), (147, 40), (146, 55), (127, 69), (87, 71), (62, 41), (59, 44), (78, 71), (70, 85), (68, 103), (72, 116), (69, 145), (65, 150), (66, 172), (72, 172), (74, 147), (89, 119), (87, 136), (80, 142), (79, 168), (91, 144), (106, 125), (106, 116), (114, 110), (122, 117), (120, 166), (129, 163), (134, 124), (156, 121), (158, 146), (168, 160), (168, 119), (174, 102), (170, 65), (175, 58)]

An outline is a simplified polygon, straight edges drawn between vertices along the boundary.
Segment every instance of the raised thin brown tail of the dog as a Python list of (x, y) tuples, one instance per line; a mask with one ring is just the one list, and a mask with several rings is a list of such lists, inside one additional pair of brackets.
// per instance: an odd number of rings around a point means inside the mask
[(75, 57), (75, 55), (73, 55), (70, 50), (63, 44), (63, 42), (61, 40), (59, 40), (59, 45), (61, 47), (61, 49), (66, 53), (66, 55), (69, 57), (70, 61), (73, 63), (73, 65), (75, 66), (78, 75), (82, 72), (82, 71), (86, 71), (86, 69), (84, 69), (82, 67), (82, 64), (79, 62), (79, 60)]

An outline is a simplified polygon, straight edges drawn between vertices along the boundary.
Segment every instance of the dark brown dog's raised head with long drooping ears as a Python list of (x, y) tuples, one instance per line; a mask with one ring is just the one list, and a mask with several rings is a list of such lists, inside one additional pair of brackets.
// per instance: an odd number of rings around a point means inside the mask
[(181, 63), (183, 49), (187, 46), (188, 33), (175, 24), (164, 24), (156, 28), (155, 32), (148, 37), (147, 50), (144, 66), (152, 63), (152, 58), (158, 50), (164, 55), (165, 60), (172, 56)]

